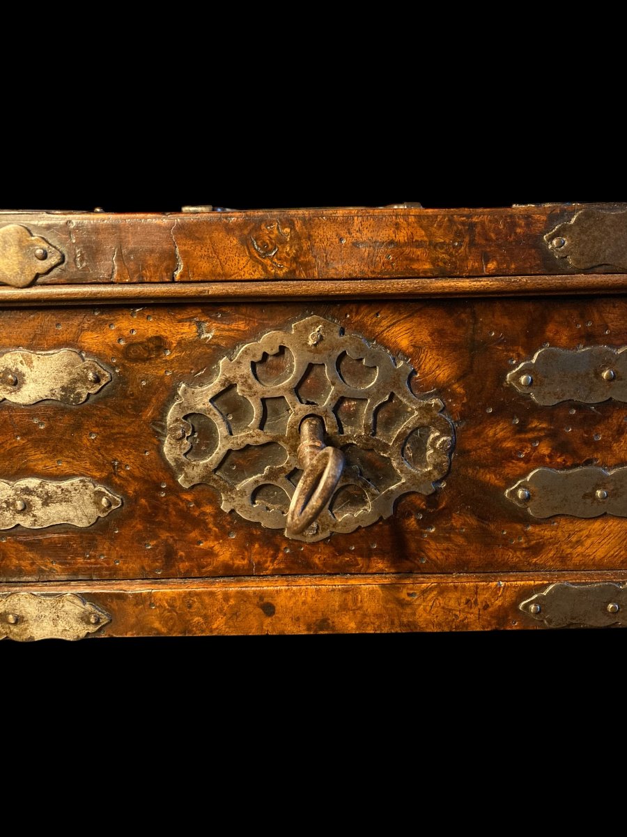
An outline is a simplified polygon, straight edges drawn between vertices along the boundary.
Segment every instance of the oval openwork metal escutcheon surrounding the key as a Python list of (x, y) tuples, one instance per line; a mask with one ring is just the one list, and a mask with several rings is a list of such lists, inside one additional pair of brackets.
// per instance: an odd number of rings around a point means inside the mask
[[(223, 358), (212, 383), (182, 383), (164, 452), (181, 485), (212, 485), (222, 509), (248, 521), (310, 542), (354, 531), (390, 516), (403, 494), (433, 493), (449, 469), (451, 423), (439, 398), (414, 395), (414, 374), (336, 323), (308, 317)], [(294, 501), (303, 468), (311, 484)]]

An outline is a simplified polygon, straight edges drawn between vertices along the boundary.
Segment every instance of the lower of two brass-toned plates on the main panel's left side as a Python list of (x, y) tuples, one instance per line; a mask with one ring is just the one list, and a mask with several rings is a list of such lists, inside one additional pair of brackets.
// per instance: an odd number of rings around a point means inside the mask
[(43, 529), (59, 523), (91, 526), (121, 505), (121, 497), (84, 476), (63, 482), (30, 477), (0, 480), (0, 529)]

